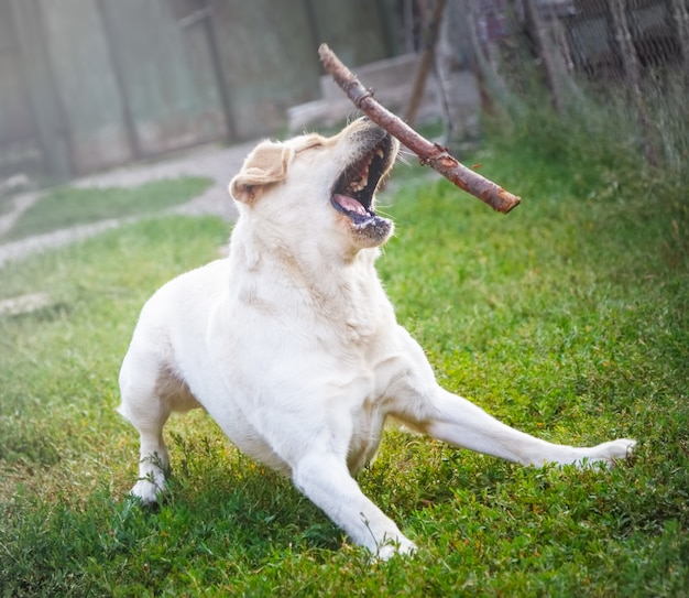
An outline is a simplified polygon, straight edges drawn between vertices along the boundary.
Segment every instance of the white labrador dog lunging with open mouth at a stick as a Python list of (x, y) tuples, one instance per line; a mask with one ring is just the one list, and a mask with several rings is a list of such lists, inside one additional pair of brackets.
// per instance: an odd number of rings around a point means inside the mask
[(453, 446), (525, 465), (612, 463), (634, 441), (556, 445), (441, 389), (395, 320), (375, 272), (393, 224), (374, 192), (398, 143), (367, 119), (339, 134), (264, 141), (230, 183), (240, 218), (227, 259), (160, 289), (120, 373), (120, 413), (141, 435), (132, 493), (154, 502), (163, 425), (203, 406), (245, 454), (292, 477), (381, 558), (415, 546), (353, 479), (386, 417)]

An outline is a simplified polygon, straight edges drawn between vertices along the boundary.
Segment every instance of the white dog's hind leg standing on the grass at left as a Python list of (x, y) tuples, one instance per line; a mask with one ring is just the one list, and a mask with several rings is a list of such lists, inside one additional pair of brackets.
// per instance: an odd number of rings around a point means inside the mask
[(153, 503), (165, 488), (165, 474), (169, 466), (163, 441), (163, 426), (172, 411), (165, 394), (165, 372), (151, 367), (149, 356), (130, 349), (120, 371), (122, 402), (118, 412), (139, 431), (139, 479), (131, 494), (145, 503)]

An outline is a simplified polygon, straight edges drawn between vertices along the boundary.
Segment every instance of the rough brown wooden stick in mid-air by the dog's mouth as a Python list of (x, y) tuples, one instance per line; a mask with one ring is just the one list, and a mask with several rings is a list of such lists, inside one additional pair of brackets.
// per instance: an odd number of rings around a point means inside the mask
[(452, 157), (446, 148), (431, 143), (379, 104), (371, 90), (361, 85), (327, 44), (320, 45), (318, 55), (325, 69), (332, 75), (335, 83), (342, 88), (354, 106), (418, 155), (422, 164), (429, 165), (459, 188), (478, 197), (497, 211), (506, 214), (520, 205), (522, 200), (520, 197), (468, 168)]

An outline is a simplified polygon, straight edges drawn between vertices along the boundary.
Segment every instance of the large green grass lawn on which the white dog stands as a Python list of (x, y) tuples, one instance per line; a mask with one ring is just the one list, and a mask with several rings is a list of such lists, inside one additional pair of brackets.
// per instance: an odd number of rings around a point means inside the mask
[(51, 297), (0, 316), (0, 596), (687, 596), (682, 185), (499, 148), (475, 162), (523, 205), (408, 176), (381, 198), (400, 320), (447, 389), (550, 441), (637, 438), (632, 459), (522, 468), (390, 430), (359, 481), (420, 550), (372, 564), (195, 412), (167, 427), (168, 500), (142, 509), (119, 365), (145, 298), (228, 235), (149, 218), (0, 270), (0, 300)]

